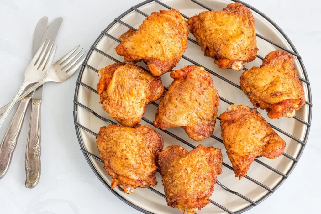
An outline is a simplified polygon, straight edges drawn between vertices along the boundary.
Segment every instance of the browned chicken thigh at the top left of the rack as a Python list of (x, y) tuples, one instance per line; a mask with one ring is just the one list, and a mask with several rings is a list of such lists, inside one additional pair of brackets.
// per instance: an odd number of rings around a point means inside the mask
[(116, 52), (127, 62), (143, 60), (154, 76), (169, 72), (187, 48), (188, 27), (178, 10), (153, 12), (135, 32), (119, 37)]

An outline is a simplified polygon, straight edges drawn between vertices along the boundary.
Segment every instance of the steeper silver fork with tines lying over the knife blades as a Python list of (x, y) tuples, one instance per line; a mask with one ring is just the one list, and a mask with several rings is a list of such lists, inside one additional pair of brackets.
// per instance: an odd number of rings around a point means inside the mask
[(56, 50), (57, 50), (57, 46), (56, 46), (51, 53), (52, 47), (54, 45), (52, 43), (52, 45), (49, 47), (49, 51), (47, 52), (49, 42), (50, 40), (48, 41), (47, 45), (45, 45), (46, 44), (46, 41), (45, 41), (41, 45), (37, 54), (33, 57), (27, 69), (25, 70), (24, 81), (22, 82), (22, 85), (20, 86), (20, 89), (18, 90), (17, 94), (14, 96), (13, 100), (9, 103), (9, 106), (5, 110), (4, 115), (0, 119), (1, 120), (0, 127), (3, 124), (5, 118), (8, 116), (8, 113), (12, 109), (13, 105), (19, 99), (23, 90), (31, 83), (35, 83), (43, 80), (44, 77), (49, 72), (49, 69), (51, 67), (52, 61), (54, 60)]

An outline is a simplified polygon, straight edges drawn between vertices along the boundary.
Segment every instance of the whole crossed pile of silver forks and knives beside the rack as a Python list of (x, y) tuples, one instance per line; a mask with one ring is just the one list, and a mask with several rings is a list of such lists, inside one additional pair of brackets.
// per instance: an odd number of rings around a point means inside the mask
[[(0, 109), (0, 127), (14, 104), (19, 107), (0, 144), (0, 178), (7, 172), (16, 147), (25, 113), (31, 101), (31, 116), (26, 148), (25, 168), (28, 188), (36, 186), (40, 178), (40, 114), (42, 87), (46, 82), (63, 82), (71, 77), (84, 60), (79, 46), (53, 64), (57, 46), (54, 42), (63, 21), (56, 18), (48, 26), (48, 17), (38, 22), (32, 48), (32, 60), (24, 72), (24, 81), (13, 100)], [(81, 53), (82, 52), (82, 53)]]

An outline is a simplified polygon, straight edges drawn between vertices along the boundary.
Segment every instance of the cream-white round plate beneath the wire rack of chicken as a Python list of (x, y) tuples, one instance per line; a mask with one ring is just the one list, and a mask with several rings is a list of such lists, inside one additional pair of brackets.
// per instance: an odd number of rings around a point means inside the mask
[[(202, 11), (206, 11), (203, 7), (199, 6), (198, 4), (195, 4), (192, 1), (187, 0), (164, 0), (162, 1), (164, 4), (167, 4), (175, 9), (178, 9), (181, 13), (187, 15), (188, 17), (191, 17), (195, 14), (198, 14)], [(226, 7), (227, 4), (231, 3), (230, 1), (224, 1), (224, 0), (203, 0), (201, 1), (203, 4), (207, 5), (208, 7), (212, 8), (213, 10), (221, 10), (223, 7)], [(155, 2), (148, 3), (143, 5), (139, 8), (139, 10), (143, 11), (146, 14), (151, 14), (153, 11), (159, 11), (160, 9), (166, 9), (160, 4), (157, 4)], [(166, 9), (167, 10), (167, 9)], [(264, 37), (271, 39), (275, 43), (286, 47), (290, 50), (291, 47), (284, 39), (284, 37), (281, 35), (281, 33), (276, 30), (276, 28), (273, 27), (272, 24), (270, 24), (268, 21), (266, 21), (262, 16), (258, 15), (257, 13), (253, 12), (254, 19), (255, 19), (255, 28), (256, 32), (260, 35), (263, 35)], [(133, 26), (134, 28), (138, 28), (142, 21), (145, 19), (145, 17), (135, 11), (130, 12), (125, 17), (123, 17), (121, 20), (125, 23)], [(108, 23), (106, 23), (106, 26)], [(113, 25), (110, 30), (108, 30), (108, 33), (115, 38), (118, 38), (122, 33), (124, 33), (126, 30), (128, 30), (127, 27), (122, 25), (121, 23), (116, 23)], [(189, 37), (192, 39), (195, 39), (192, 34), (189, 34)], [(114, 57), (115, 59), (119, 61), (124, 61), (122, 56), (118, 56), (115, 52), (115, 47), (119, 43), (113, 39), (108, 38), (107, 36), (103, 36), (99, 43), (97, 44), (96, 48), (101, 50), (104, 53), (107, 53), (108, 55)], [(230, 81), (236, 83), (239, 85), (239, 77), (243, 71), (235, 71), (232, 69), (220, 69), (217, 67), (216, 64), (214, 64), (214, 60), (210, 57), (205, 57), (203, 52), (201, 51), (200, 47), (196, 44), (188, 41), (187, 44), (188, 48), (184, 54), (184, 56), (187, 56), (188, 58), (194, 60), (195, 62), (203, 65), (204, 67), (210, 69), (211, 71), (229, 79)], [(273, 51), (273, 50), (280, 50), (276, 46), (270, 44), (269, 42), (266, 42), (263, 39), (260, 39), (257, 37), (257, 47), (259, 48), (258, 55), (265, 57), (267, 53)], [(296, 57), (295, 57), (296, 58)], [(106, 56), (102, 55), (101, 53), (97, 51), (92, 51), (90, 57), (88, 58), (87, 64), (92, 66), (95, 69), (100, 69), (102, 67), (105, 67), (108, 64), (112, 64), (114, 61), (110, 60)], [(184, 65), (191, 64), (185, 59), (181, 59), (180, 62), (177, 64), (176, 69), (180, 69), (184, 67)], [(259, 58), (256, 58), (251, 63), (246, 63), (246, 68), (251, 68), (252, 66), (260, 66), (262, 64), (262, 60)], [(139, 63), (139, 65), (146, 67), (144, 63)], [(300, 67), (299, 61), (296, 58), (295, 61), (296, 69), (300, 77), (304, 78), (302, 68)], [(238, 88), (232, 86), (231, 84), (221, 80), (220, 78), (217, 78), (216, 76), (212, 75), (213, 78), (213, 85), (214, 87), (219, 91), (219, 94), (221, 97), (226, 98), (227, 100), (235, 103), (235, 104), (244, 104), (248, 105), (250, 107), (253, 107), (250, 103), (249, 99), (246, 97), (246, 95), (243, 94), (241, 90)], [(169, 77), (169, 73), (165, 73), (161, 76), (164, 86), (169, 86), (169, 84), (172, 82), (172, 79)], [(85, 83), (86, 85), (92, 87), (93, 89), (96, 89), (96, 85), (99, 81), (98, 74), (93, 72), (88, 67), (84, 68), (84, 71), (81, 76), (81, 81)], [(307, 86), (305, 83), (302, 83), (303, 88), (306, 93), (306, 99), (307, 97)], [(109, 115), (101, 108), (101, 104), (99, 104), (99, 96), (92, 92), (91, 90), (88, 90), (87, 88), (83, 86), (79, 86), (79, 93), (77, 97), (78, 102), (81, 104), (91, 108), (94, 112), (96, 112), (98, 115), (111, 119)], [(157, 101), (159, 103), (159, 101)], [(220, 115), (223, 111), (226, 110), (226, 108), (229, 105), (225, 103), (223, 100), (220, 101), (219, 111), (218, 115)], [(98, 133), (99, 128), (101, 126), (107, 126), (109, 123), (99, 119), (94, 114), (90, 113), (86, 109), (77, 106), (77, 117), (78, 117), (78, 123), (82, 126), (92, 130), (95, 133)], [(146, 111), (144, 117), (150, 121), (153, 121), (155, 118), (155, 112), (157, 110), (157, 107), (154, 105), (148, 105), (146, 106)], [(279, 120), (270, 120), (266, 114), (265, 111), (260, 110), (259, 112), (261, 115), (271, 124), (275, 125), (276, 127), (282, 129), (286, 133), (291, 134), (292, 136), (298, 138), (299, 140), (303, 141), (304, 135), (306, 133), (307, 126), (300, 123), (299, 121), (295, 120), (294, 118), (281, 118)], [(296, 116), (299, 118), (307, 121), (308, 120), (308, 106), (305, 105), (299, 112), (296, 113)], [(186, 148), (187, 150), (191, 150), (189, 146), (186, 144), (174, 139), (169, 134), (162, 132), (161, 130), (156, 129), (152, 125), (146, 123), (142, 120), (142, 125), (148, 125), (154, 128), (156, 131), (158, 131), (164, 138), (164, 148), (166, 148), (169, 145), (173, 144), (179, 144)], [(198, 144), (203, 144), (204, 146), (213, 146), (215, 148), (219, 148), (222, 150), (223, 153), (223, 162), (227, 165), (231, 166), (230, 160), (227, 157), (226, 150), (224, 148), (224, 145), (215, 140), (214, 138), (208, 138), (200, 142), (193, 141), (188, 138), (187, 134), (182, 128), (171, 128), (168, 129), (169, 132), (177, 135), (178, 137), (182, 138), (183, 140), (197, 146)], [(279, 133), (278, 134), (286, 141), (287, 146), (285, 149), (285, 153), (292, 157), (297, 157), (299, 150), (301, 148), (301, 144), (297, 141), (292, 140), (291, 138), (287, 137), (286, 135)], [(220, 130), (220, 121), (217, 121), (215, 125), (215, 130), (213, 135), (221, 138), (221, 130)], [(79, 136), (84, 144), (85, 150), (91, 152), (92, 154), (99, 156), (99, 152), (96, 145), (95, 137), (84, 131), (83, 129), (80, 129), (80, 136)], [(285, 156), (281, 156), (276, 159), (267, 159), (267, 158), (258, 158), (263, 163), (267, 164), (268, 166), (271, 166), (278, 171), (282, 172), (283, 174), (287, 174), (290, 170), (291, 166), (293, 165), (293, 161)], [(105, 172), (103, 168), (103, 164), (96, 160), (95, 158), (90, 157), (90, 160), (95, 167), (95, 169), (98, 171), (100, 176), (104, 179), (107, 184), (111, 183), (110, 176)], [(232, 191), (238, 192), (245, 197), (251, 199), (252, 201), (258, 201), (262, 197), (264, 197), (267, 193), (269, 193), (268, 190), (265, 188), (260, 187), (259, 185), (253, 183), (247, 178), (242, 178), (240, 181), (238, 181), (238, 178), (235, 178), (235, 175), (231, 169), (228, 167), (223, 166), (222, 167), (223, 173), (218, 176), (218, 181), (221, 182), (224, 186), (229, 188)], [(267, 187), (273, 189), (281, 180), (282, 176), (278, 175), (277, 173), (273, 172), (272, 170), (268, 169), (265, 166), (262, 166), (261, 164), (257, 162), (253, 162), (251, 165), (247, 175), (256, 181), (266, 185)], [(154, 187), (157, 191), (160, 193), (164, 193), (163, 186), (161, 182), (161, 176), (159, 173), (157, 173), (157, 181), (158, 185)], [(251, 203), (247, 202), (246, 200), (240, 198), (239, 196), (230, 193), (226, 190), (224, 190), (221, 186), (218, 184), (215, 185), (215, 190), (212, 194), (211, 200), (215, 201), (216, 203), (222, 205), (223, 207), (227, 208), (228, 210), (232, 212), (236, 212), (239, 210), (242, 210)], [(126, 194), (121, 191), (119, 191), (117, 188), (114, 189), (119, 195), (121, 195), (123, 198), (125, 198), (127, 201), (131, 202), (132, 204), (142, 208), (143, 210), (146, 210), (148, 212), (152, 213), (181, 213), (178, 209), (169, 208), (166, 204), (166, 201), (163, 197), (160, 195), (157, 195), (156, 193), (153, 193), (151, 190), (147, 188), (138, 188), (135, 190), (133, 194)], [(107, 191), (106, 189), (102, 189), (101, 191)], [(204, 207), (202, 210), (198, 211), (197, 213), (224, 213), (222, 209), (215, 206), (214, 204), (209, 204), (206, 207)]]

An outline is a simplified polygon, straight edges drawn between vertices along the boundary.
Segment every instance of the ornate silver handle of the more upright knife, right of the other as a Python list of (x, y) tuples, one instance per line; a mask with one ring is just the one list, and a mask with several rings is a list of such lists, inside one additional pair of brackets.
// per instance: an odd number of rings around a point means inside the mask
[(33, 188), (38, 184), (40, 166), (40, 111), (41, 99), (32, 99), (31, 117), (26, 149), (26, 187)]

